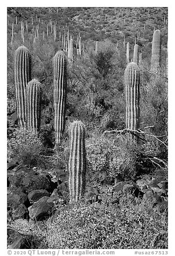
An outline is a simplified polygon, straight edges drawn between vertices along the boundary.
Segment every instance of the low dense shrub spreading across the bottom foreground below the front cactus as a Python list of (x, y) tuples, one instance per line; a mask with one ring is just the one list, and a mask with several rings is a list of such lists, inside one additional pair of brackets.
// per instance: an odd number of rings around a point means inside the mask
[(120, 205), (83, 202), (59, 208), (47, 222), (40, 248), (167, 248), (167, 217), (129, 196)]

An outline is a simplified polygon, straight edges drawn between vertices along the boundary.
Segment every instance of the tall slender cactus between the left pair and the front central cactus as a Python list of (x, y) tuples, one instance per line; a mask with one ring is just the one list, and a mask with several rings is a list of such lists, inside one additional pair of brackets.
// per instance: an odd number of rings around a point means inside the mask
[(54, 129), (55, 146), (61, 144), (65, 126), (67, 92), (67, 61), (64, 52), (58, 51), (53, 58), (54, 67)]

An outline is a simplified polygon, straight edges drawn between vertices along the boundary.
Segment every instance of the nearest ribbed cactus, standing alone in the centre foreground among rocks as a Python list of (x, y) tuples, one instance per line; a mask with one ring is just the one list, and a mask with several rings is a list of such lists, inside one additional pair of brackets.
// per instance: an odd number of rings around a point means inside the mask
[(84, 194), (86, 153), (85, 153), (85, 127), (76, 120), (70, 125), (69, 142), (69, 193), (70, 201), (77, 202)]

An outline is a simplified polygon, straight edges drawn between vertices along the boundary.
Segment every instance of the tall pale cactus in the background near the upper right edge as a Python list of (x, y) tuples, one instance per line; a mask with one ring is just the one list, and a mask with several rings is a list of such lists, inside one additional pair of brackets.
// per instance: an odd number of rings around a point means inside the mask
[(152, 38), (151, 72), (158, 74), (161, 67), (161, 31), (155, 30)]

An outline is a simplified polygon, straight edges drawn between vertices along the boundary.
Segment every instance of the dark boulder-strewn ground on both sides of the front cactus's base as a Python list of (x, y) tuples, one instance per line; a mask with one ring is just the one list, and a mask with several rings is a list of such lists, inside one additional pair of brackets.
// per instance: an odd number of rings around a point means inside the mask
[[(18, 162), (9, 162), (7, 172), (8, 248), (37, 248), (38, 236), (30, 227), (37, 225), (42, 230), (43, 222), (58, 213), (59, 204), (69, 202), (68, 172), (59, 167), (50, 172), (29, 169)], [(121, 196), (130, 194), (149, 202), (151, 207), (167, 211), (167, 186), (163, 176), (143, 175), (136, 182), (118, 182), (105, 176), (100, 186), (86, 186), (84, 198), (98, 208), (103, 207), (107, 198), (119, 203)], [(14, 225), (23, 227), (23, 231), (14, 229)]]

